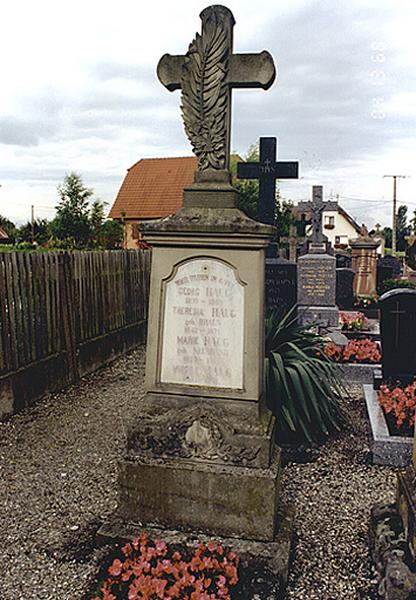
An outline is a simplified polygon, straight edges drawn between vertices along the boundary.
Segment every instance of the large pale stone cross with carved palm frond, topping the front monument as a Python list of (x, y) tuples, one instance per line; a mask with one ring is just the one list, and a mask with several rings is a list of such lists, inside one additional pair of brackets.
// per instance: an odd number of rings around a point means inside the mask
[[(165, 54), (157, 74), (169, 91), (182, 90), (182, 117), (198, 158), (197, 172), (228, 171), (231, 90), (267, 90), (276, 70), (269, 52), (233, 54), (235, 21), (228, 8), (209, 6), (200, 18), (202, 33), (196, 34), (186, 55)], [(199, 179), (204, 180), (203, 174)]]

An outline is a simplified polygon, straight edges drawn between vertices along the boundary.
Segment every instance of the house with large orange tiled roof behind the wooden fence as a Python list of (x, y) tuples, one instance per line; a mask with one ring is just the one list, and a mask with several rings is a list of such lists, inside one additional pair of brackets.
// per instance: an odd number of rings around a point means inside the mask
[(166, 217), (182, 206), (183, 189), (194, 180), (194, 156), (142, 158), (127, 175), (111, 207), (110, 219), (124, 224), (125, 248), (140, 248), (140, 224)]

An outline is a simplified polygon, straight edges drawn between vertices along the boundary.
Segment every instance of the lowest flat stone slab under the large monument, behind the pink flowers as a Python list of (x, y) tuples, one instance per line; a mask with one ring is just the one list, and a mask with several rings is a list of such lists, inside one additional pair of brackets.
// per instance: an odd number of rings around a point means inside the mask
[[(236, 490), (238, 493), (238, 490)], [(261, 519), (261, 513), (258, 514)], [(284, 598), (291, 559), (293, 537), (293, 519), (291, 510), (280, 507), (276, 520), (276, 536), (273, 541), (259, 542), (237, 538), (215, 536), (215, 540), (225, 548), (233, 550), (240, 557), (238, 587), (239, 598), (244, 600), (280, 600)], [(173, 529), (143, 527), (142, 524), (126, 522), (115, 516), (105, 523), (97, 533), (99, 543), (126, 543), (140, 536), (145, 530), (150, 538), (160, 539), (168, 544), (186, 545), (195, 548), (207, 543), (212, 536), (202, 533), (190, 533)]]

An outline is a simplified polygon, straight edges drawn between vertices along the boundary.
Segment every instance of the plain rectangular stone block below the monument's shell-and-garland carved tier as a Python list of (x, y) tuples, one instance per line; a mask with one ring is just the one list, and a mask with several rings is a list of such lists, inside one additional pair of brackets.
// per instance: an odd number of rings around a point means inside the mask
[(266, 469), (128, 457), (119, 465), (118, 514), (146, 527), (272, 541), (280, 449)]

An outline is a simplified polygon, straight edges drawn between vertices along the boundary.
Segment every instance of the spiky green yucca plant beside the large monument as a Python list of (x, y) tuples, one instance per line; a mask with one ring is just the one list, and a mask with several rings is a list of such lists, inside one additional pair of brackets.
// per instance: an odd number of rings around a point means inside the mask
[(266, 317), (266, 400), (280, 443), (319, 443), (345, 423), (339, 371), (323, 353), (326, 343), (298, 323), (296, 306)]

